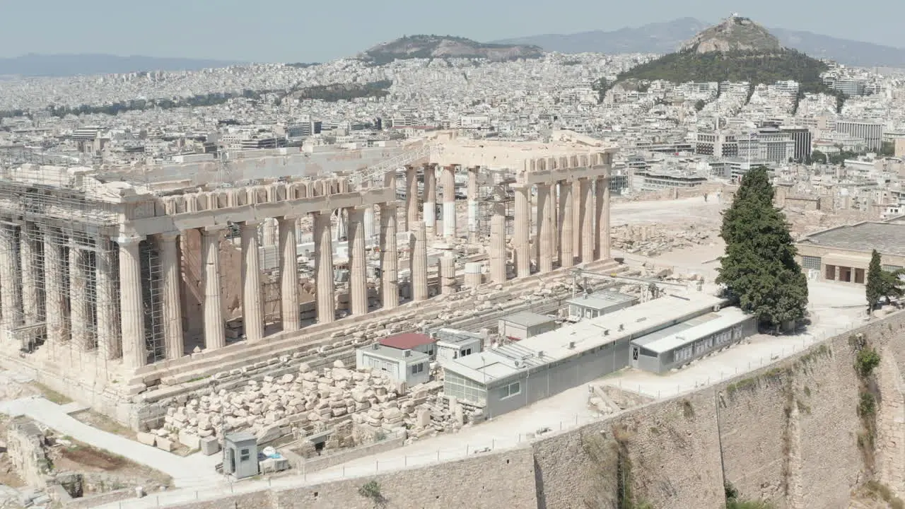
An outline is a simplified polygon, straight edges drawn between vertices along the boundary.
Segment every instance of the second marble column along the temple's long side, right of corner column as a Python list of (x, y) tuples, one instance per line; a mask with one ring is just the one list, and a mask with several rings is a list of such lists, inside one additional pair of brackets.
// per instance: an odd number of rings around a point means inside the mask
[(179, 287), (182, 283), (182, 264), (179, 260), (178, 240), (179, 234), (176, 232), (157, 235), (160, 247), (160, 267), (163, 270), (162, 304), (167, 359), (179, 359), (186, 353), (182, 333), (182, 303), (179, 295)]

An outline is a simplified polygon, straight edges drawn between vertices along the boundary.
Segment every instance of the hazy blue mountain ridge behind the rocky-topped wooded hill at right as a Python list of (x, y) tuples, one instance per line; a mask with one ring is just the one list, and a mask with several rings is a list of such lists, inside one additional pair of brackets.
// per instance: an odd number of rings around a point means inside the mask
[[(578, 34), (543, 34), (494, 41), (501, 44), (533, 44), (560, 53), (672, 53), (710, 24), (694, 18), (645, 24), (611, 32), (595, 30)], [(788, 48), (816, 58), (828, 58), (846, 65), (905, 67), (905, 48), (862, 43), (783, 28), (770, 28)]]

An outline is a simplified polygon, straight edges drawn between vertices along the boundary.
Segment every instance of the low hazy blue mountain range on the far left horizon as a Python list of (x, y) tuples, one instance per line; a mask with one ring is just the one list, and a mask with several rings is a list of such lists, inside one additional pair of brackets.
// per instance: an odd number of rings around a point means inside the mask
[(74, 76), (77, 74), (114, 74), (140, 71), (197, 71), (225, 67), (241, 62), (195, 58), (157, 58), (119, 56), (102, 53), (37, 54), (0, 58), (0, 76)]

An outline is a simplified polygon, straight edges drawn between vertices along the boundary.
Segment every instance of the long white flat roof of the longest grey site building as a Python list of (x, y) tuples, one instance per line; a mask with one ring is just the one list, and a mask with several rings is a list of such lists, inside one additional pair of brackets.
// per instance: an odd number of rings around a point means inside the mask
[(693, 298), (665, 295), (527, 340), (450, 360), (443, 369), (492, 384), (495, 380), (578, 356), (607, 343), (662, 331), (675, 323), (710, 313), (713, 306), (720, 303), (723, 299), (707, 293), (696, 293)]

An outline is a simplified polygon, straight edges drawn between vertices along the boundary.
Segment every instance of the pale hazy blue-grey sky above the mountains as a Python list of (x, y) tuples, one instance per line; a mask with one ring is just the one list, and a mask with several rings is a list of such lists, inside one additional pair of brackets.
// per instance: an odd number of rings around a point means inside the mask
[(732, 11), (767, 26), (905, 47), (902, 0), (0, 0), (0, 57), (115, 53), (323, 62), (403, 34), (491, 41), (684, 16), (714, 22)]

